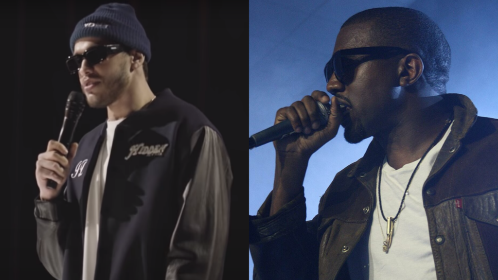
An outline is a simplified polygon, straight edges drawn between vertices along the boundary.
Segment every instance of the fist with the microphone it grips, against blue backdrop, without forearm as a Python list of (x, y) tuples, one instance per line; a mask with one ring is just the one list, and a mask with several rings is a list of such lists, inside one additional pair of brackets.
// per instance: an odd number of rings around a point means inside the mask
[[(311, 156), (337, 135), (341, 124), (342, 114), (336, 98), (332, 97), (331, 104), (329, 101), (325, 92), (314, 91), (311, 96), (280, 108), (274, 126), (249, 138), (249, 148), (251, 144), (259, 146), (273, 140), (280, 155)], [(329, 106), (330, 113), (326, 110)]]

